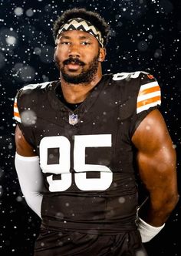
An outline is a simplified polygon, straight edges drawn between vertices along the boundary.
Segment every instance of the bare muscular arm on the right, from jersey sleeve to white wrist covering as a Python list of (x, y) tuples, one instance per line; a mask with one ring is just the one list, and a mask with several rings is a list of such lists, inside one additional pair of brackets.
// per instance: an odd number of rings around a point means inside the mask
[(140, 178), (150, 197), (140, 208), (146, 223), (163, 225), (179, 200), (176, 180), (176, 152), (158, 110), (153, 110), (140, 123), (132, 138), (137, 147)]

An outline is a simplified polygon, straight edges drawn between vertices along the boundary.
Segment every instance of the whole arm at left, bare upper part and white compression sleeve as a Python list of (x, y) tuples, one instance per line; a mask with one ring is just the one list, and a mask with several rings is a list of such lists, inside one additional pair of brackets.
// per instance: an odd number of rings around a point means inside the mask
[(43, 177), (39, 165), (39, 157), (35, 150), (25, 140), (21, 130), (15, 130), (15, 168), (22, 194), (29, 207), (41, 217), (41, 202), (43, 191)]

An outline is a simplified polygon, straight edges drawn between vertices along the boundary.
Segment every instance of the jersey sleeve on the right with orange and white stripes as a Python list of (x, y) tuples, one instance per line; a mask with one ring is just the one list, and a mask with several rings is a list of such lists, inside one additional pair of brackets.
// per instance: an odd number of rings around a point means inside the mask
[(140, 72), (137, 82), (138, 87), (135, 93), (136, 107), (130, 126), (131, 137), (143, 119), (153, 109), (159, 109), (161, 105), (161, 89), (153, 75), (147, 72)]

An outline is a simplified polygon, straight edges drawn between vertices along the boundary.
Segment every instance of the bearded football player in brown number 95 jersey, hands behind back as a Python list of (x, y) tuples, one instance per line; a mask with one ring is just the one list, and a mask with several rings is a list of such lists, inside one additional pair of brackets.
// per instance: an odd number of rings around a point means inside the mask
[(102, 74), (109, 26), (97, 13), (67, 10), (53, 31), (60, 79), (15, 98), (15, 167), (42, 219), (35, 255), (146, 256), (178, 201), (160, 87), (146, 72)]

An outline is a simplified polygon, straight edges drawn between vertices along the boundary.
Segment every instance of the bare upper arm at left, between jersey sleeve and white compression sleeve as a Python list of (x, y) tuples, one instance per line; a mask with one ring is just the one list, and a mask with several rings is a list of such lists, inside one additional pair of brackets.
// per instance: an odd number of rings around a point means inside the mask
[(37, 155), (34, 148), (25, 140), (18, 125), (15, 129), (15, 147), (16, 152), (23, 157), (34, 157)]

